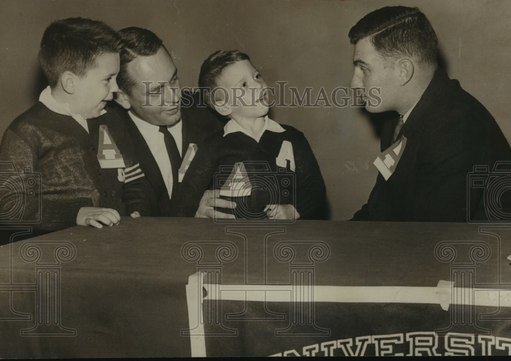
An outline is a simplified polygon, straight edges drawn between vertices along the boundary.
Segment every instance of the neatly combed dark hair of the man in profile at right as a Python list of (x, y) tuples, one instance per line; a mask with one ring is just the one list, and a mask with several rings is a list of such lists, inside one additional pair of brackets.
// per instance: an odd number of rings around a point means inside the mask
[(351, 28), (350, 42), (370, 37), (385, 57), (412, 56), (424, 64), (436, 64), (438, 41), (431, 23), (418, 8), (387, 6), (375, 10)]

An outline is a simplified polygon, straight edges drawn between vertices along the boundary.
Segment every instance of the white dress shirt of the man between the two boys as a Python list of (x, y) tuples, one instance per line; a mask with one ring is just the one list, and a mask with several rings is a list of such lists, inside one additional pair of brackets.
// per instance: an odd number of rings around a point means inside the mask
[[(133, 119), (133, 123), (135, 123), (136, 127), (144, 137), (144, 140), (146, 141), (147, 146), (149, 147), (149, 150), (154, 157), (154, 160), (156, 160), (156, 164), (158, 164), (161, 176), (163, 177), (165, 186), (167, 187), (169, 197), (171, 197), (174, 181), (172, 179), (172, 166), (170, 164), (167, 147), (165, 146), (164, 135), (159, 132), (159, 126), (143, 121), (131, 111), (128, 111), (128, 114), (131, 119)], [(183, 136), (181, 132), (182, 127), (182, 121), (179, 121), (172, 127), (167, 128), (176, 141), (179, 154), (181, 154), (181, 148), (183, 144)]]

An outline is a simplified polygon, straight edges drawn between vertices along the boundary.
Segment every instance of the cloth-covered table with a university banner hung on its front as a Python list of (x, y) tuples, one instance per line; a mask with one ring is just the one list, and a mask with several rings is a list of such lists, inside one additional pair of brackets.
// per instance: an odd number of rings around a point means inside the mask
[(511, 352), (511, 224), (123, 218), (3, 232), (3, 358)]

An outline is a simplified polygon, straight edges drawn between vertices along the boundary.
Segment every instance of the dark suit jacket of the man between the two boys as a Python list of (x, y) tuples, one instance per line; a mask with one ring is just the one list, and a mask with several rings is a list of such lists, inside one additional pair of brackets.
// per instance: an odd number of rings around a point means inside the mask
[[(183, 95), (184, 98), (184, 95)], [(223, 127), (223, 118), (217, 115), (205, 105), (201, 105), (198, 99), (198, 93), (188, 94), (187, 103), (181, 104), (181, 122), (182, 125), (182, 149), (181, 159), (184, 157), (190, 143), (195, 143), (197, 147), (203, 144), (204, 139)], [(190, 100), (193, 100), (189, 105)], [(185, 106), (187, 105), (187, 106)], [(188, 106), (189, 105), (189, 106)], [(107, 108), (107, 114), (123, 119), (128, 134), (133, 142), (133, 147), (137, 155), (138, 162), (147, 180), (151, 184), (151, 216), (164, 216), (170, 212), (170, 198), (165, 186), (165, 182), (158, 168), (149, 147), (140, 133), (135, 123), (132, 121), (128, 112), (117, 104)], [(177, 189), (179, 191), (179, 188)]]

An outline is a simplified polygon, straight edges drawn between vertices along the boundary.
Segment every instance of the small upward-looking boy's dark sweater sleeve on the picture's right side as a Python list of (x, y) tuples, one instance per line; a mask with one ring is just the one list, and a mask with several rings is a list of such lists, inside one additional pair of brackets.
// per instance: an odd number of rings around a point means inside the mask
[(303, 133), (298, 133), (293, 147), (296, 166), (296, 210), (302, 219), (324, 218), (326, 187), (311, 146)]

